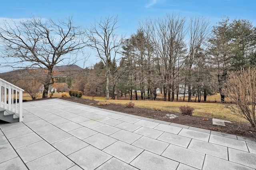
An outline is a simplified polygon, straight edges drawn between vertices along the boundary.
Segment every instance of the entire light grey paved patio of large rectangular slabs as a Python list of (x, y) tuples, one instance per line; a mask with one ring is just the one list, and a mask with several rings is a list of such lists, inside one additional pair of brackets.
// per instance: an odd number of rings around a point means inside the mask
[(0, 170), (256, 169), (256, 141), (60, 99), (0, 124)]

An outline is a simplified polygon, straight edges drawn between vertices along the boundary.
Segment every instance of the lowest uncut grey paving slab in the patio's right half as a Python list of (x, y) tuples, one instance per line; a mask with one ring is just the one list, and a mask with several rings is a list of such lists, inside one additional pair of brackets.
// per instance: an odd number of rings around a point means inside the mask
[(161, 156), (202, 169), (205, 154), (170, 144)]

